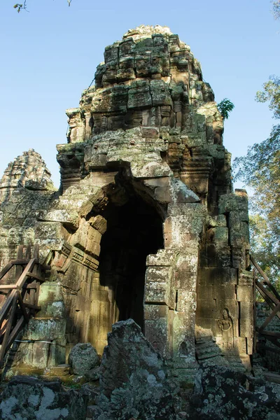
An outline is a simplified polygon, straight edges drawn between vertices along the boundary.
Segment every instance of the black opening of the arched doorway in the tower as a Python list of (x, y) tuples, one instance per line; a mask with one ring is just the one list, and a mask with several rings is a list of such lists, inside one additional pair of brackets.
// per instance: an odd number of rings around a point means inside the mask
[(104, 214), (107, 230), (101, 241), (100, 284), (114, 291), (118, 315), (144, 327), (146, 257), (164, 247), (162, 220), (139, 195), (120, 206), (109, 202)]

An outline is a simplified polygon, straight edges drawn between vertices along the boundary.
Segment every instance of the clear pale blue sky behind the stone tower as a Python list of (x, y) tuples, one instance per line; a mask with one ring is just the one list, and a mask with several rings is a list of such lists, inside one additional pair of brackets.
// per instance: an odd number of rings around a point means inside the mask
[(41, 153), (56, 186), (56, 144), (66, 142), (65, 109), (78, 106), (106, 45), (138, 25), (167, 25), (190, 45), (216, 101), (235, 110), (225, 121), (232, 157), (269, 136), (274, 120), (255, 102), (270, 74), (280, 74), (280, 21), (269, 0), (111, 1), (15, 0), (0, 9), (0, 178), (10, 160), (29, 148)]

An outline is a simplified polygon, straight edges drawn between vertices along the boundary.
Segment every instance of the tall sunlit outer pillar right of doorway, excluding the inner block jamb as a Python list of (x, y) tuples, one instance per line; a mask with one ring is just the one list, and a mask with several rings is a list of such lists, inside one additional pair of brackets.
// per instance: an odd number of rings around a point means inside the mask
[[(179, 382), (193, 381), (195, 360), (195, 311), (199, 246), (207, 209), (198, 203), (169, 204), (164, 225), (165, 248), (175, 255), (175, 307), (169, 343), (172, 372)], [(169, 316), (170, 318), (170, 316)]]

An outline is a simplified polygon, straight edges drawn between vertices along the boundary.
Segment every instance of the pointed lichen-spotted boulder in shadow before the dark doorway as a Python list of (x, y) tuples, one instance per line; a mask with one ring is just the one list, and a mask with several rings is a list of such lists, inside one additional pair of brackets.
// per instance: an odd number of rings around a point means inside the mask
[(176, 419), (176, 387), (132, 319), (113, 325), (102, 357), (98, 420)]

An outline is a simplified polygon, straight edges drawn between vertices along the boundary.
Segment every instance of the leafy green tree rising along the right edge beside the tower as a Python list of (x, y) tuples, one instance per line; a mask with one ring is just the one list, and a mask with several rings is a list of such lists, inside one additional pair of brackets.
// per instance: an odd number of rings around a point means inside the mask
[[(257, 92), (258, 102), (269, 102), (280, 119), (280, 79), (270, 76)], [(269, 138), (248, 148), (234, 161), (235, 179), (253, 188), (251, 197), (251, 247), (255, 258), (272, 281), (280, 286), (280, 124)]]

